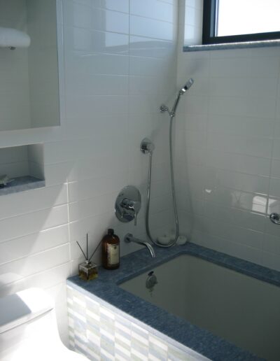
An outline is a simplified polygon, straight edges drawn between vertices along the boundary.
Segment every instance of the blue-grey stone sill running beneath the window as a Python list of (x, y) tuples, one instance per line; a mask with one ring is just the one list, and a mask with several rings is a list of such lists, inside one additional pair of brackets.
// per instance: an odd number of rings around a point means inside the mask
[(183, 46), (183, 52), (205, 51), (205, 50), (227, 50), (246, 48), (265, 48), (270, 46), (280, 46), (280, 40), (248, 41), (244, 43), (223, 43), (209, 45), (187, 45)]

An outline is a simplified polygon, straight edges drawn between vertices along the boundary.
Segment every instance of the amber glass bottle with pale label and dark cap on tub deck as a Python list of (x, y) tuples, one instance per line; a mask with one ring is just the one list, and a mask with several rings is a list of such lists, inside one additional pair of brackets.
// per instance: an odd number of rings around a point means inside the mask
[(111, 228), (102, 239), (102, 266), (106, 269), (120, 267), (120, 239)]

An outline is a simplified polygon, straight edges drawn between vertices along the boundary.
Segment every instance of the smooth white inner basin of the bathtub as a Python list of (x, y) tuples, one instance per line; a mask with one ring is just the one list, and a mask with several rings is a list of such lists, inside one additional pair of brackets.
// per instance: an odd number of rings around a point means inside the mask
[(266, 360), (280, 360), (280, 288), (191, 255), (145, 272), (120, 288)]

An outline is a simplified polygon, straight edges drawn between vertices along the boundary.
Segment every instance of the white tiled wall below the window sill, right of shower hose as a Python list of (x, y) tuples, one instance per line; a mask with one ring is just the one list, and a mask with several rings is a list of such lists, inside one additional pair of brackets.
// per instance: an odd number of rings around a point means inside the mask
[(280, 48), (185, 52), (176, 119), (182, 231), (204, 246), (280, 270)]

